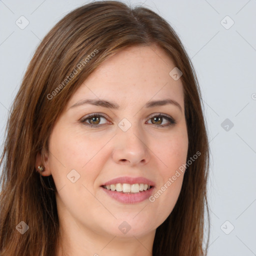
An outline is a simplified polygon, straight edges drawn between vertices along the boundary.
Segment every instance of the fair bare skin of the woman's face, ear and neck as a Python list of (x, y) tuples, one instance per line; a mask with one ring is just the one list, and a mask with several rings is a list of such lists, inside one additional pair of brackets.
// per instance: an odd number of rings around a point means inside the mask
[[(180, 79), (169, 75), (174, 67), (158, 46), (133, 46), (106, 59), (67, 102), (52, 129), (41, 173), (52, 175), (57, 189), (57, 255), (151, 255), (155, 230), (177, 201), (183, 173), (153, 202), (121, 203), (100, 185), (124, 175), (143, 176), (155, 182), (153, 195), (186, 162), (183, 88)], [(119, 109), (90, 104), (70, 108), (85, 98), (114, 101)], [(144, 107), (164, 98), (176, 100), (181, 110), (174, 104)], [(98, 125), (89, 127), (80, 119), (90, 113), (106, 118), (87, 119)], [(169, 115), (176, 124), (159, 127), (169, 121), (154, 120), (153, 113)], [(118, 127), (123, 118), (131, 123), (127, 131)], [(37, 154), (35, 166), (40, 163)], [(72, 169), (80, 175), (74, 183), (67, 178)], [(131, 227), (125, 234), (118, 228), (123, 221)]]

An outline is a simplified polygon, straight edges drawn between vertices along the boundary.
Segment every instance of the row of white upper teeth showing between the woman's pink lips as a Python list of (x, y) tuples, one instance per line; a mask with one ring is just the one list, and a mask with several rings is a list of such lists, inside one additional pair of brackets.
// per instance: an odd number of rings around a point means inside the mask
[(137, 193), (139, 191), (147, 190), (150, 188), (150, 185), (147, 184), (142, 184), (142, 183), (136, 183), (136, 184), (127, 184), (127, 183), (117, 183), (117, 184), (111, 184), (111, 185), (103, 185), (104, 188), (108, 190), (116, 190), (118, 192), (132, 192), (132, 193)]

